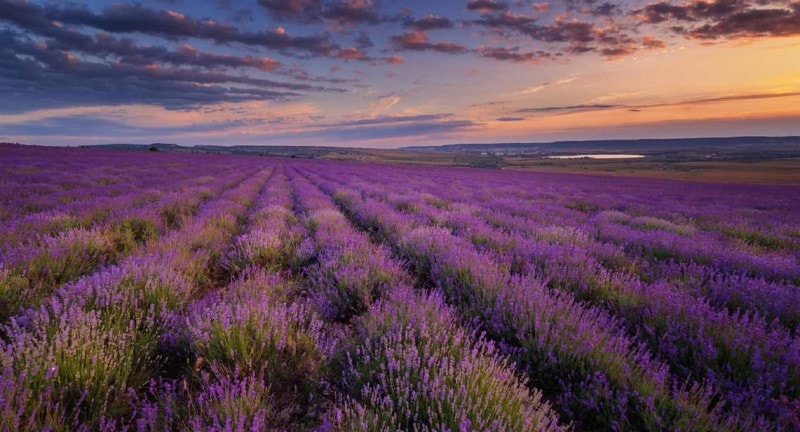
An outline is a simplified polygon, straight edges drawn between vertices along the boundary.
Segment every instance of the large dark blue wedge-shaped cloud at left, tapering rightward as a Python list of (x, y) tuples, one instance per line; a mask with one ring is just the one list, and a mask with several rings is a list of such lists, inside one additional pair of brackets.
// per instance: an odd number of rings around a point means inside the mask
[(188, 107), (216, 102), (285, 100), (298, 91), (340, 91), (246, 75), (160, 65), (86, 61), (14, 33), (0, 32), (4, 112), (87, 104)]

